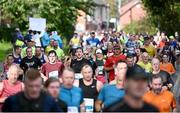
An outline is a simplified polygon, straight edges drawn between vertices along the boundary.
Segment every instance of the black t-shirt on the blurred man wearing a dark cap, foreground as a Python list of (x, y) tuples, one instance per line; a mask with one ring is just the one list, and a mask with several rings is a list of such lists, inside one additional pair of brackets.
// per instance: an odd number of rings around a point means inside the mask
[(116, 103), (110, 105), (103, 110), (104, 112), (159, 112), (158, 109), (146, 102), (142, 108), (135, 109), (132, 108), (125, 102), (124, 99), (117, 101)]

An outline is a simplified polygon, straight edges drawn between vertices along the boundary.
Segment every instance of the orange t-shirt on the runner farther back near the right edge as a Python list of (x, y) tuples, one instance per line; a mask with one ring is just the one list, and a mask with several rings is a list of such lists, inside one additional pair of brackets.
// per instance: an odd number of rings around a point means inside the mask
[(161, 63), (160, 64), (160, 70), (168, 72), (170, 75), (174, 74), (176, 70), (174, 69), (174, 66), (171, 63)]

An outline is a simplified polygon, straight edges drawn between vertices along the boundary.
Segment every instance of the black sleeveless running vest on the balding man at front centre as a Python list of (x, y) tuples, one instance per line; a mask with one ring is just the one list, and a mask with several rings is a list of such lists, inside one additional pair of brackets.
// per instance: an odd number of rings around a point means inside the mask
[(91, 98), (91, 99), (94, 99), (94, 101), (95, 101), (98, 96), (98, 91), (97, 91), (96, 86), (97, 86), (97, 80), (95, 80), (95, 79), (93, 79), (92, 84), (89, 86), (86, 86), (84, 84), (83, 79), (79, 80), (79, 87), (83, 91), (84, 98)]

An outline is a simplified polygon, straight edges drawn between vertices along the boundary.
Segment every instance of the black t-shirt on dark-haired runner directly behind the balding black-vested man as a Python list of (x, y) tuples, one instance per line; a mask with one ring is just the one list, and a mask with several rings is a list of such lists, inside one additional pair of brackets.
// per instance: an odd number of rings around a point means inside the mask
[(85, 58), (83, 58), (82, 60), (72, 60), (70, 66), (75, 71), (75, 73), (81, 73), (81, 69), (85, 64), (89, 64), (90, 66), (92, 66), (91, 62)]

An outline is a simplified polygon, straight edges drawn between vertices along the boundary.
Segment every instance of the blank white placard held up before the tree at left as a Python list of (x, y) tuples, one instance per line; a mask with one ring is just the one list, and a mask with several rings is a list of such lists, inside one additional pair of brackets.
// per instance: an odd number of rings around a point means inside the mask
[(46, 19), (29, 18), (29, 29), (36, 31), (44, 31), (46, 28)]

